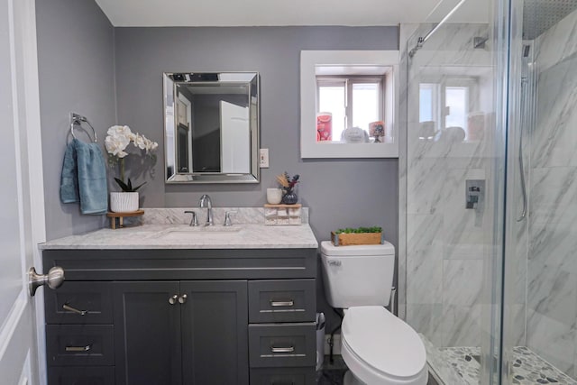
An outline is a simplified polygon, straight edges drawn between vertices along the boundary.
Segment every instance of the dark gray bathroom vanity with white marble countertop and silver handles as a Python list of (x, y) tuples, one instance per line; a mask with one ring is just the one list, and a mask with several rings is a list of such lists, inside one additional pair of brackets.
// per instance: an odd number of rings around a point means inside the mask
[[(49, 384), (313, 384), (308, 225), (102, 229), (42, 245)], [(178, 230), (175, 230), (178, 229)]]

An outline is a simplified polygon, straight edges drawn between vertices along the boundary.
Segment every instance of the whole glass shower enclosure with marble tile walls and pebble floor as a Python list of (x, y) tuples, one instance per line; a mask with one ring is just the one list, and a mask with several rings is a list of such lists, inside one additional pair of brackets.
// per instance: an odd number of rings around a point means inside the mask
[(452, 4), (401, 25), (399, 315), (438, 382), (577, 384), (577, 1)]

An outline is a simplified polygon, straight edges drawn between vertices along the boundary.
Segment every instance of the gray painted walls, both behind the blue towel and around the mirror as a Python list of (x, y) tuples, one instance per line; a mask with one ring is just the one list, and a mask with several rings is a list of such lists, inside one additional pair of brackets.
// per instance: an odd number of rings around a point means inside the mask
[[(397, 50), (397, 27), (113, 28), (92, 0), (37, 2), (41, 124), (47, 239), (105, 224), (60, 204), (60, 170), (69, 112), (86, 115), (99, 142), (113, 124), (128, 124), (160, 143), (156, 167), (129, 177), (148, 184), (142, 206), (261, 206), (275, 176), (300, 174), (298, 195), (310, 207), (319, 241), (343, 226), (382, 225), (397, 245), (398, 160), (301, 160), (300, 50)], [(115, 66), (115, 67), (114, 67)], [(261, 147), (270, 169), (256, 185), (167, 186), (163, 170), (163, 71), (256, 70), (261, 73)], [(115, 108), (117, 113), (115, 113)], [(117, 114), (117, 119), (115, 118)], [(320, 275), (320, 266), (319, 266)], [(318, 281), (319, 308), (335, 324)], [(328, 330), (327, 328), (327, 330)]]

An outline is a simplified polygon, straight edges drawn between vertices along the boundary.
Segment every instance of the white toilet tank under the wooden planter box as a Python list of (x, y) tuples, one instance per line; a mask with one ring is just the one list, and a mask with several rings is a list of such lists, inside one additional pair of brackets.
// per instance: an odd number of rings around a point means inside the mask
[(337, 308), (389, 305), (395, 247), (384, 244), (334, 246), (321, 243), (325, 297)]

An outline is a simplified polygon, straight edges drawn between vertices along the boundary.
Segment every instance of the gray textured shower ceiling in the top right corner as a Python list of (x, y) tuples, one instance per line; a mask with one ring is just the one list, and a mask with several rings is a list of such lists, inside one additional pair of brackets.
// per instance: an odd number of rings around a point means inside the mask
[(525, 0), (523, 39), (535, 39), (575, 9), (577, 0)]

